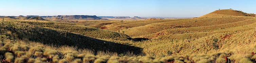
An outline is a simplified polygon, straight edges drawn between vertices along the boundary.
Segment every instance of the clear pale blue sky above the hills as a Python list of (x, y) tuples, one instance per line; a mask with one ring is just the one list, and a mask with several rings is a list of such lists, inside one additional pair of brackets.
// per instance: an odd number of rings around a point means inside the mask
[(256, 13), (256, 0), (0, 0), (0, 15), (200, 17), (218, 9)]

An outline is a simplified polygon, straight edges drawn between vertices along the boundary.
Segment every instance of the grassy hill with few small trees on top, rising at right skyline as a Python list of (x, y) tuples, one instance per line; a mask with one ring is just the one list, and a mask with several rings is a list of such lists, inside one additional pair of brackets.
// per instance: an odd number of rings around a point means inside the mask
[(218, 17), (234, 17), (234, 16), (252, 16), (252, 14), (248, 14), (242, 11), (233, 10), (233, 9), (223, 9), (223, 10), (215, 10), (211, 13), (205, 14), (198, 18), (218, 18)]

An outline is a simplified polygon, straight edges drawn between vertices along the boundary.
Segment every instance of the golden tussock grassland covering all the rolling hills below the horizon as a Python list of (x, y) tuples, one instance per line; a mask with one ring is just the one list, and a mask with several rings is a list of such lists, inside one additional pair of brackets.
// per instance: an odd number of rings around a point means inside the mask
[(0, 21), (0, 62), (255, 63), (256, 17), (217, 13), (233, 16), (96, 23), (6, 19)]

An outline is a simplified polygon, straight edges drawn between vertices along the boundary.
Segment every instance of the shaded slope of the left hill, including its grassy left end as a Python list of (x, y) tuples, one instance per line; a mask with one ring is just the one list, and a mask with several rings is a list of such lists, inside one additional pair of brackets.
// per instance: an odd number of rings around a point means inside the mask
[[(133, 51), (135, 54), (139, 54), (141, 50), (140, 48), (134, 46), (95, 39), (84, 35), (70, 33), (65, 30), (43, 28), (40, 26), (18, 23), (15, 21), (1, 21), (0, 24), (0, 35), (6, 36), (13, 40), (34, 41), (45, 45), (54, 45), (57, 47), (66, 45), (75, 46), (78, 49), (89, 49), (94, 52), (109, 51), (125, 53), (128, 51)], [(43, 24), (49, 25), (54, 23)]]

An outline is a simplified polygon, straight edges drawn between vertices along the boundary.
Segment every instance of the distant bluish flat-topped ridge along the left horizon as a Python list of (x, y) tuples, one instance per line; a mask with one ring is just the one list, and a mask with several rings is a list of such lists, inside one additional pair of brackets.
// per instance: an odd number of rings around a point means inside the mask
[(58, 16), (37, 16), (37, 15), (27, 15), (27, 16), (0, 16), (0, 18), (4, 19), (22, 19), (22, 20), (108, 20), (97, 17), (96, 15), (58, 15)]

